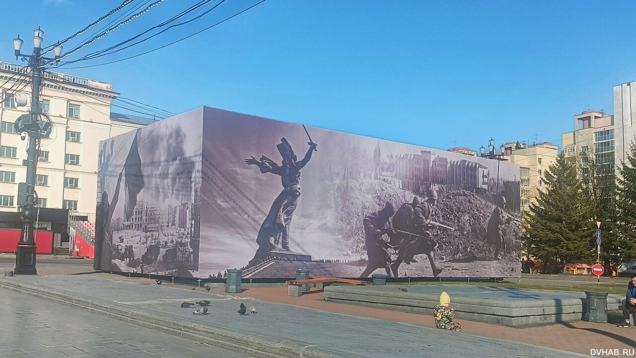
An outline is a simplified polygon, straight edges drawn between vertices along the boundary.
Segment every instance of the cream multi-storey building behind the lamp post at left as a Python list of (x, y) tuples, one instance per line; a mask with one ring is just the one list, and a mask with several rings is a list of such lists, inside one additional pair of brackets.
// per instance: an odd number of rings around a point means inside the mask
[[(38, 206), (66, 208), (93, 217), (97, 203), (99, 141), (154, 122), (150, 118), (111, 113), (118, 96), (111, 83), (46, 72), (40, 95), (53, 128), (41, 140), (36, 192)], [(24, 66), (0, 62), (0, 211), (17, 211), (18, 183), (26, 181), (27, 142), (15, 120), (29, 112), (18, 107), (18, 92), (31, 96)], [(92, 218), (91, 218), (92, 219)]]

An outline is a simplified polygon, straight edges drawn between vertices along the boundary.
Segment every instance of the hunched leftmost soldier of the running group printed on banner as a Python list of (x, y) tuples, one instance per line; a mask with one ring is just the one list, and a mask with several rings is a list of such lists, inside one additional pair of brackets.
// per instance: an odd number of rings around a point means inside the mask
[(360, 277), (368, 277), (378, 268), (384, 268), (387, 271), (387, 276), (391, 277), (391, 255), (387, 250), (387, 242), (382, 240), (382, 235), (394, 233), (389, 219), (395, 213), (394, 204), (388, 202), (382, 210), (371, 213), (364, 218), (364, 241), (369, 264)]

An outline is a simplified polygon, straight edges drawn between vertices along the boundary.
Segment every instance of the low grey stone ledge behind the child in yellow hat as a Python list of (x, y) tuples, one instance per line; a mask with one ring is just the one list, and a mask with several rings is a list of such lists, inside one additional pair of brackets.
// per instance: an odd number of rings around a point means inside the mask
[[(410, 287), (410, 286), (407, 286)], [(474, 290), (479, 287), (473, 286)], [(415, 287), (413, 287), (415, 288)], [(453, 286), (439, 287), (438, 290), (452, 290)], [(531, 295), (531, 291), (527, 291)], [(448, 292), (452, 307), (458, 319), (475, 320), (509, 327), (523, 327), (554, 322), (570, 322), (583, 319), (586, 299), (576, 298), (577, 293), (569, 294), (572, 298), (555, 299), (500, 299), (493, 297), (478, 298), (453, 295)], [(541, 292), (546, 295), (546, 292)], [(563, 292), (555, 292), (555, 296), (565, 296)], [(369, 287), (334, 286), (324, 289), (326, 301), (356, 304), (359, 306), (382, 308), (411, 313), (432, 315), (432, 309), (439, 304), (439, 294), (421, 292), (402, 292), (398, 286), (385, 289)], [(619, 297), (607, 297), (607, 311), (618, 311), (614, 308)]]

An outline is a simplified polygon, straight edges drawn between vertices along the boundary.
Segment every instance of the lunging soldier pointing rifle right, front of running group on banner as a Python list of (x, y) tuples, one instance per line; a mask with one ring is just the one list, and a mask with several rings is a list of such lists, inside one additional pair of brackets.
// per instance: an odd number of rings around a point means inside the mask
[[(393, 275), (397, 277), (400, 264), (411, 264), (413, 262), (413, 256), (419, 254), (425, 254), (431, 262), (431, 269), (433, 276), (436, 277), (443, 270), (438, 268), (435, 263), (435, 257), (433, 250), (437, 246), (437, 243), (432, 238), (431, 231), (436, 226), (441, 226), (431, 220), (431, 215), (435, 204), (437, 203), (438, 193), (436, 190), (431, 189), (428, 192), (428, 196), (424, 202), (420, 203), (415, 210), (413, 210), (413, 220), (407, 232), (409, 234), (402, 241), (402, 245), (399, 248), (399, 254), (396, 261), (391, 265), (391, 271)], [(445, 226), (447, 227), (447, 226)], [(448, 227), (452, 229), (451, 227)], [(417, 261), (416, 261), (417, 262)]]

